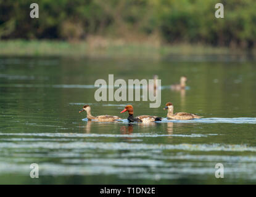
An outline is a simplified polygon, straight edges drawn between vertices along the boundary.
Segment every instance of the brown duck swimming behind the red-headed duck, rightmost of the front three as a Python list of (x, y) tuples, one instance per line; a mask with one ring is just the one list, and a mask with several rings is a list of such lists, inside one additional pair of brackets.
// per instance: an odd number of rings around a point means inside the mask
[(186, 113), (186, 112), (178, 112), (173, 114), (173, 103), (168, 102), (165, 105), (165, 108), (163, 110), (168, 110), (167, 118), (168, 119), (198, 119), (202, 118), (202, 116), (197, 116), (192, 113)]

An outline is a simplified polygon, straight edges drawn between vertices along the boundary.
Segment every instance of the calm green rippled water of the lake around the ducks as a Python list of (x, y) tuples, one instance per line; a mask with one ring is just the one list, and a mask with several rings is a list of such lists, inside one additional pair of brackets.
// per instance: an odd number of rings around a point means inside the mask
[[(215, 58), (214, 58), (215, 59)], [(94, 81), (162, 79), (162, 105), (96, 102)], [(170, 84), (188, 76), (188, 89)], [(111, 60), (0, 58), (0, 183), (225, 184), (256, 183), (255, 62), (220, 60)], [(128, 124), (134, 115), (166, 117), (175, 111), (204, 116), (162, 123)], [(119, 115), (117, 123), (86, 121), (78, 113)], [(30, 164), (39, 179), (30, 178)], [(224, 179), (215, 178), (222, 163)]]

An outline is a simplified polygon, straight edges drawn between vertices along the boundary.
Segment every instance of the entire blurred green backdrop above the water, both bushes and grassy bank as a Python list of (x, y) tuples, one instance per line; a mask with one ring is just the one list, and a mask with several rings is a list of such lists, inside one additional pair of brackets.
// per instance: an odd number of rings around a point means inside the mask
[[(30, 18), (33, 2), (39, 5), (39, 18)], [(215, 18), (218, 2), (224, 5), (225, 18)], [(51, 49), (67, 54), (70, 47), (76, 54), (115, 54), (120, 48), (133, 51), (133, 46), (149, 54), (195, 53), (191, 44), (226, 48), (198, 47), (197, 53), (244, 52), (255, 48), (255, 10), (254, 0), (5, 0), (0, 1), (0, 54), (52, 54)]]

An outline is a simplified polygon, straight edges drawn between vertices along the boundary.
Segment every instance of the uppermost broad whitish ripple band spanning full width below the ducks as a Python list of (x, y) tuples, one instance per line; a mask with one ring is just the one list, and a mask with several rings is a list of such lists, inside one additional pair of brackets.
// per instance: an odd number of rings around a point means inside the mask
[(213, 144), (144, 144), (144, 143), (102, 143), (102, 142), (36, 142), (36, 143), (7, 143), (1, 142), (0, 148), (46, 148), (46, 149), (99, 149), (99, 150), (186, 150), (186, 151), (251, 151), (256, 152), (256, 147), (247, 145), (222, 145)]

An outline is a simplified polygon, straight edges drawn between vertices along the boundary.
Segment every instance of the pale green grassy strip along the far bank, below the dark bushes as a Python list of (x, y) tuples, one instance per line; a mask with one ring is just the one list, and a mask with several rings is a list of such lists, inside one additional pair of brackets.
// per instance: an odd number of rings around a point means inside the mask
[[(20, 56), (87, 56), (120, 58), (162, 58), (168, 55), (246, 55), (241, 49), (212, 47), (200, 44), (154, 45), (151, 42), (105, 41), (49, 41), (49, 40), (9, 40), (0, 41), (0, 55)], [(249, 54), (256, 54), (250, 50)]]

